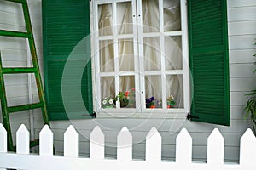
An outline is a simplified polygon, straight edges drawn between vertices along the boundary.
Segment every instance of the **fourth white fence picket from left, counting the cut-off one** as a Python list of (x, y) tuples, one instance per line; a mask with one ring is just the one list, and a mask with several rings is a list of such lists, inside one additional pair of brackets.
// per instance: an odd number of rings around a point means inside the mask
[(64, 156), (79, 156), (79, 134), (72, 125), (70, 125), (64, 133)]

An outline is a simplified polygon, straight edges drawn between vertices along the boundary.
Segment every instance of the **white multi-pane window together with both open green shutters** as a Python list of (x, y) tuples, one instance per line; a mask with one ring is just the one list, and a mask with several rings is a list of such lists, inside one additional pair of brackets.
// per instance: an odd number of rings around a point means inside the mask
[[(96, 16), (91, 23), (96, 30), (96, 34), (91, 32), (95, 50), (90, 53), (90, 41), (85, 42), (84, 50), (79, 53), (82, 58), (67, 62), (73, 48), (90, 35), (89, 0), (42, 1), (44, 88), (50, 120), (84, 119), (93, 111), (190, 111), (192, 121), (230, 125), (225, 0), (94, 0), (92, 3)], [(180, 20), (176, 24), (169, 22), (177, 19), (170, 14), (178, 11), (180, 14), (175, 16)], [(178, 48), (182, 49), (180, 53)], [(95, 77), (91, 77), (91, 62), (83, 68), (82, 77), (78, 77), (77, 68), (84, 60), (90, 61), (90, 54), (95, 59)], [(72, 65), (68, 72), (70, 79), (63, 77), (67, 63)], [(96, 80), (96, 100), (92, 97), (92, 78)], [(63, 80), (66, 85), (79, 82), (75, 86), (79, 88), (63, 88)], [(131, 101), (113, 105), (111, 99), (119, 92), (123, 92), (119, 97), (126, 95)], [(66, 99), (68, 110), (63, 93), (70, 97)], [(171, 95), (176, 105), (171, 102), (169, 108), (167, 100)], [(150, 100), (152, 97), (154, 100)], [(152, 100), (154, 109), (150, 108)]]

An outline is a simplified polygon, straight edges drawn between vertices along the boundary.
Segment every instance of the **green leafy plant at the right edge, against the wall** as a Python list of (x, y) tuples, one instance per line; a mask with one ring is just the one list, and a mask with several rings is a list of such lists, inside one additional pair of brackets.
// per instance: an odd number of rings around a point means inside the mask
[[(256, 57), (256, 54), (253, 56)], [(255, 66), (256, 62), (254, 62), (253, 65)], [(254, 69), (253, 72), (256, 72), (256, 69)], [(246, 117), (250, 116), (253, 122), (253, 133), (256, 135), (256, 89), (252, 90), (252, 92), (247, 94), (247, 96), (250, 96), (250, 98), (247, 100), (247, 106), (245, 108)]]

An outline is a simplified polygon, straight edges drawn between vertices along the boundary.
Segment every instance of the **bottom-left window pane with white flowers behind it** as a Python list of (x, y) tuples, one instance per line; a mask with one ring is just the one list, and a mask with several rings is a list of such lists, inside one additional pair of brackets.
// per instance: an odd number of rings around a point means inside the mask
[(115, 108), (114, 77), (101, 77), (102, 108)]

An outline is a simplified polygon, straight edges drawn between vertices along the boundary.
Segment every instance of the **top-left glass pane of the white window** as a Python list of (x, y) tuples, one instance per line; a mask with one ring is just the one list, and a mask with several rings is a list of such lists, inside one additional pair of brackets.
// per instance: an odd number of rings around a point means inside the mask
[(113, 12), (111, 3), (98, 6), (98, 21), (100, 36), (113, 35)]

